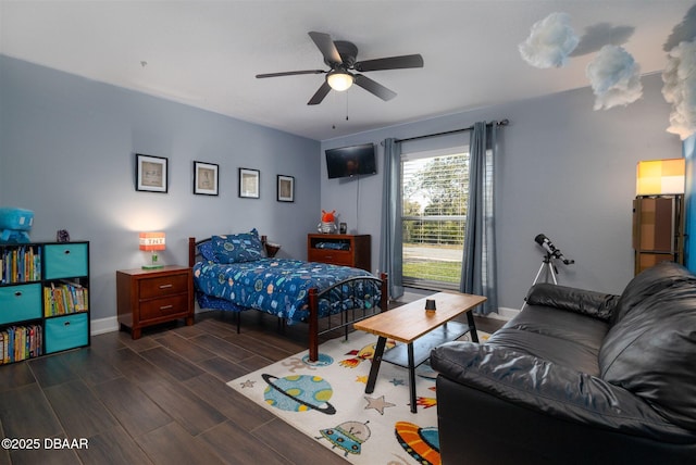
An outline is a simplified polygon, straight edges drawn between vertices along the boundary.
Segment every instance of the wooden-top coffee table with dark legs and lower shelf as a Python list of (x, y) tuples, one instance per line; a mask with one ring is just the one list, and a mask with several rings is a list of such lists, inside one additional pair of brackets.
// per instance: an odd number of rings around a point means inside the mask
[[(426, 299), (435, 300), (437, 307), (435, 312), (425, 311)], [(453, 341), (469, 331), (471, 331), (471, 339), (478, 342), (471, 311), (485, 300), (483, 296), (438, 292), (353, 324), (356, 329), (378, 336), (365, 393), (370, 394), (374, 391), (383, 360), (402, 366), (409, 369), (411, 412), (417, 413), (415, 367), (430, 357), (434, 348), (444, 342)], [(450, 322), (462, 313), (467, 313), (468, 325)], [(395, 339), (403, 344), (389, 349), (385, 353), (387, 339)]]

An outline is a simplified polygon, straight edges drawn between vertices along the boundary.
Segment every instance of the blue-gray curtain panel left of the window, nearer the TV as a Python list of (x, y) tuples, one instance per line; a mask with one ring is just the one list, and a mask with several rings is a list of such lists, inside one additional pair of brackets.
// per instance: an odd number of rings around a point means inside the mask
[(396, 142), (395, 139), (386, 139), (384, 141), (380, 269), (388, 275), (390, 299), (398, 299), (403, 296), (400, 188), (401, 144)]

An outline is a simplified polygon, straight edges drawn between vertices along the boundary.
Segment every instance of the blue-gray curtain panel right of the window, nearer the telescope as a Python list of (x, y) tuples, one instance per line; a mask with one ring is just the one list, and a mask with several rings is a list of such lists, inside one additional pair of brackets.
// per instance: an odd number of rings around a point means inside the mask
[(474, 124), (469, 146), (469, 203), (464, 226), (464, 253), (460, 290), (488, 300), (476, 313), (498, 313), (496, 292), (496, 246), (494, 219), (494, 174), (497, 124)]

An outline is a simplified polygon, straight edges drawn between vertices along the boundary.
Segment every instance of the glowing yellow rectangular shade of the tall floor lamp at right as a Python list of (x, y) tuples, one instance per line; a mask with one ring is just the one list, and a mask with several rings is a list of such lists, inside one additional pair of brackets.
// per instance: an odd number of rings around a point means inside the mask
[(684, 159), (638, 162), (636, 196), (684, 193)]

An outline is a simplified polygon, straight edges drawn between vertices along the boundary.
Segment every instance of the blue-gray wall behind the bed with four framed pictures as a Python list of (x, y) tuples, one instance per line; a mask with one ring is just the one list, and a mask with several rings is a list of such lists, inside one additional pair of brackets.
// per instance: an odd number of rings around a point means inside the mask
[[(30, 237), (89, 240), (91, 317), (115, 316), (115, 271), (148, 260), (137, 232), (164, 230), (167, 264), (187, 238), (257, 227), (306, 257), (319, 206), (319, 142), (0, 55), (0, 205), (35, 212)], [(169, 193), (137, 192), (135, 155), (169, 159)], [(220, 165), (220, 196), (192, 194), (192, 162)], [(261, 172), (261, 198), (237, 197), (237, 168)], [(295, 203), (276, 175), (295, 176)]]

